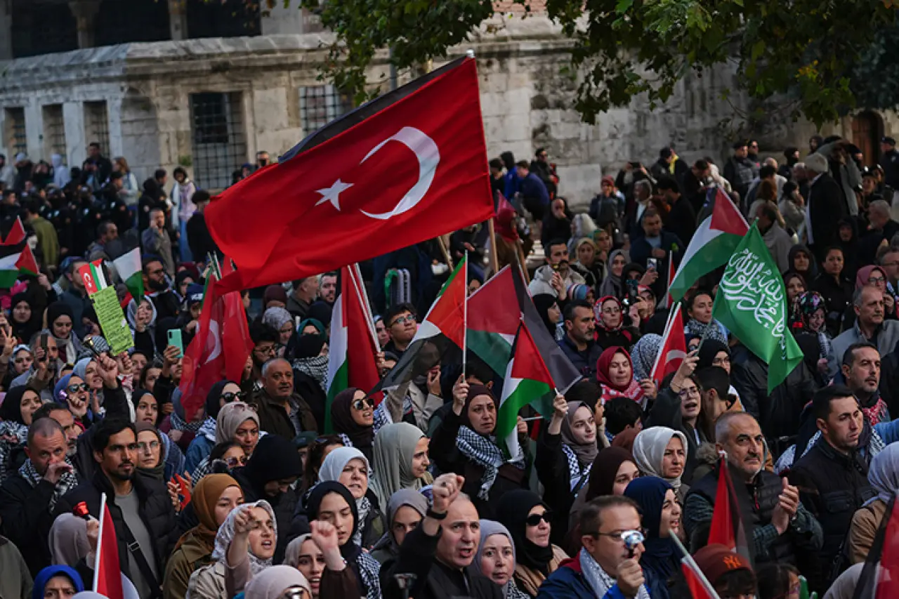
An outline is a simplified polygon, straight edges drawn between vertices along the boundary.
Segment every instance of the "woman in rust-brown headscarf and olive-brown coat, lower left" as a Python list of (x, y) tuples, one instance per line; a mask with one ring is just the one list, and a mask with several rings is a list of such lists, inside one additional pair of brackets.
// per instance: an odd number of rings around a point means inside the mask
[(244, 492), (227, 474), (210, 474), (193, 487), (191, 505), (200, 523), (182, 534), (165, 565), (164, 599), (183, 599), (191, 574), (212, 561), (218, 527), (243, 503)]

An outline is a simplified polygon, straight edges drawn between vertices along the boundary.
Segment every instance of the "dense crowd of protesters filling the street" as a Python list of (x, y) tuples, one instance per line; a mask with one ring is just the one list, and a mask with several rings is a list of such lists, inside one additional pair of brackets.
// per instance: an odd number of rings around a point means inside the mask
[[(663, 148), (578, 213), (546, 148), (491, 160), (522, 249), (543, 248), (542, 326), (581, 375), (551, 413), (522, 409), (512, 458), (495, 435), (504, 373), (474, 353), (383, 399), (329, 398), (337, 273), (243, 291), (242, 376), (186, 411), (169, 341), (200, 326), (209, 194), (183, 169), (170, 191), (165, 171), (136, 189), (100, 149), (71, 173), (0, 163), (4, 232), (21, 218), (40, 264), (0, 294), (5, 599), (97, 596), (103, 494), (129, 598), (677, 599), (692, 596), (681, 546), (721, 599), (852, 596), (899, 491), (893, 139), (874, 167), (817, 136), (783, 164), (741, 141), (720, 170)], [(717, 201), (757, 219), (783, 274), (804, 360), (770, 392), (769, 365), (713, 317), (720, 269), (677, 308), (690, 353), (652, 378), (669, 271)], [(414, 351), (444, 261), (468, 255), (469, 292), (494, 274), (486, 229), (360, 265), (382, 377)], [(120, 285), (135, 343), (113, 354), (77, 273), (134, 246), (147, 292)], [(385, 285), (397, 271), (404, 301)], [(723, 471), (748, 554), (709, 543)]]

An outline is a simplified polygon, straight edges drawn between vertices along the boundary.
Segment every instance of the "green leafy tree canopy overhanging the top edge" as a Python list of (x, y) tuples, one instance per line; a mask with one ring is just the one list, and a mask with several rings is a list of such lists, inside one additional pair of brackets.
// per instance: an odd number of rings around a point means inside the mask
[[(894, 1), (546, 0), (546, 10), (574, 42), (584, 121), (636, 94), (664, 102), (690, 72), (729, 62), (742, 88), (734, 92), (780, 96), (793, 118), (821, 124), (899, 103), (899, 76), (882, 76), (899, 71)], [(415, 67), (444, 57), (494, 14), (487, 0), (298, 2), (337, 36), (325, 73), (357, 94), (379, 50), (391, 49), (397, 68)], [(514, 2), (527, 12), (528, 0)]]

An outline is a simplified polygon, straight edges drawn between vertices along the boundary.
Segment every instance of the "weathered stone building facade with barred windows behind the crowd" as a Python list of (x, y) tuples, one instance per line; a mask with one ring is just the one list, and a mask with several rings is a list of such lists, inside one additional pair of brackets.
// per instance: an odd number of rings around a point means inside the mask
[[(258, 35), (182, 39), (184, 2), (168, 0), (170, 40), (0, 62), (0, 153), (48, 162), (58, 153), (67, 165), (80, 165), (87, 144), (100, 141), (105, 155), (128, 159), (138, 180), (182, 165), (201, 187), (219, 190), (257, 151), (277, 156), (352, 108), (318, 79), (331, 36), (310, 15), (277, 3), (261, 18)], [(2, 13), (0, 37), (10, 24)], [(560, 192), (573, 204), (590, 201), (602, 174), (615, 174), (628, 160), (649, 165), (669, 143), (687, 160), (725, 159), (729, 144), (720, 123), (734, 107), (721, 92), (734, 86), (733, 72), (691, 76), (663, 106), (636, 99), (587, 125), (573, 109), (576, 85), (563, 75), (570, 42), (559, 28), (541, 14), (498, 14), (494, 24), (497, 31), (476, 32), (449, 57), (476, 53), (489, 156), (511, 150), (530, 159), (536, 148), (547, 148)], [(79, 44), (90, 45), (84, 19), (78, 27)], [(4, 52), (8, 57), (0, 45), (0, 58)], [(369, 82), (387, 88), (387, 77), (383, 55)], [(894, 121), (877, 119), (878, 134), (893, 130)], [(847, 122), (843, 132), (848, 126), (851, 133)], [(777, 149), (788, 141), (804, 146), (797, 143), (803, 137), (802, 127), (773, 127), (761, 140), (763, 148)]]

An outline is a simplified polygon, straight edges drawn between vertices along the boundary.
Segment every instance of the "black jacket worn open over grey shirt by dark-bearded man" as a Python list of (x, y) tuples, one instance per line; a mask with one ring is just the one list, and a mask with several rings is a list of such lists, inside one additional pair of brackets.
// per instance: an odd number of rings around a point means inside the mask
[[(174, 549), (174, 543), (178, 540), (178, 528), (175, 525), (174, 507), (169, 497), (165, 483), (137, 472), (132, 478), (134, 493), (138, 494), (140, 519), (147, 526), (147, 531), (154, 541), (154, 555), (147, 556), (147, 563), (156, 563), (156, 572), (159, 582), (165, 572), (165, 562)], [(100, 517), (100, 495), (106, 494), (106, 505), (110, 508), (112, 523), (115, 526), (116, 538), (119, 541), (119, 564), (122, 572), (128, 572), (128, 541), (125, 534), (125, 519), (121, 509), (115, 503), (115, 490), (108, 478), (97, 470), (93, 479), (85, 481), (59, 498), (54, 514), (71, 514), (72, 509), (81, 502), (87, 504), (88, 512), (94, 517)]]

